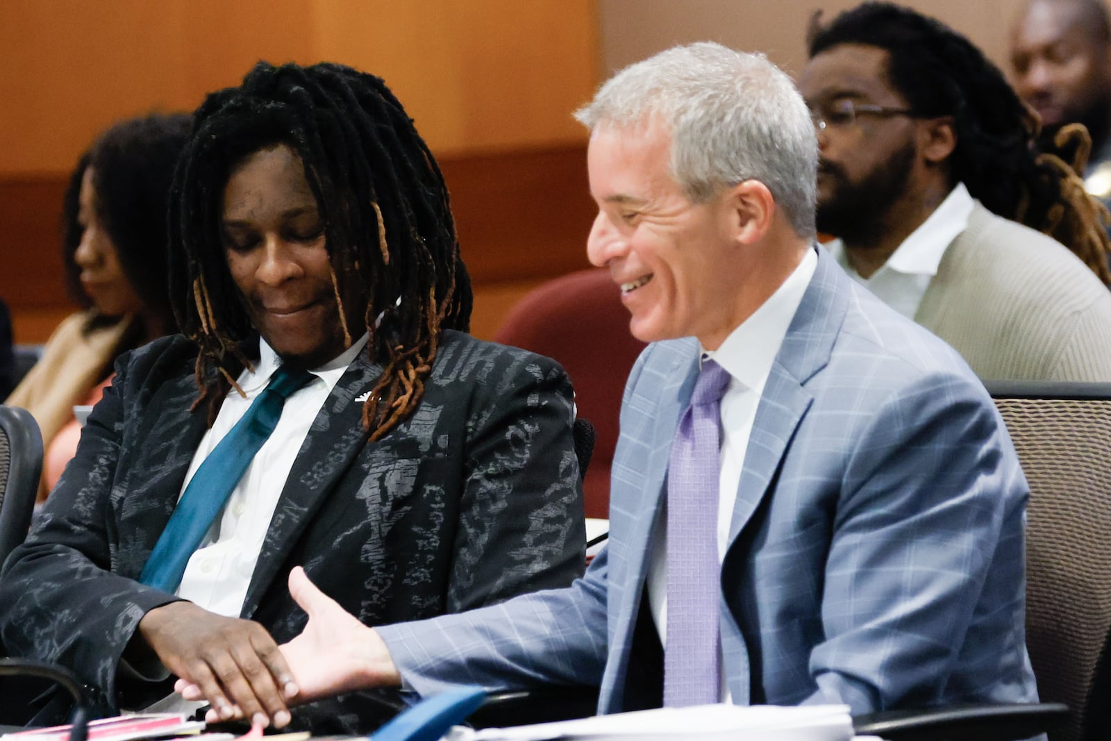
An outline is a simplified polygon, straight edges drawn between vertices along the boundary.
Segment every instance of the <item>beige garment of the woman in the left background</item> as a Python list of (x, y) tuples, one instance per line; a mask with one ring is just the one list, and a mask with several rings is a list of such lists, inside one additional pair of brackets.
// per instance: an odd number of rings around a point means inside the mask
[[(132, 321), (124, 318), (86, 334), (82, 328), (90, 316), (81, 311), (67, 317), (47, 341), (42, 358), (4, 401), (31, 412), (42, 432), (44, 449), (73, 419), (73, 405), (83, 403), (92, 387), (102, 380), (104, 367), (116, 359), (120, 339)], [(39, 501), (48, 493), (40, 482)]]

